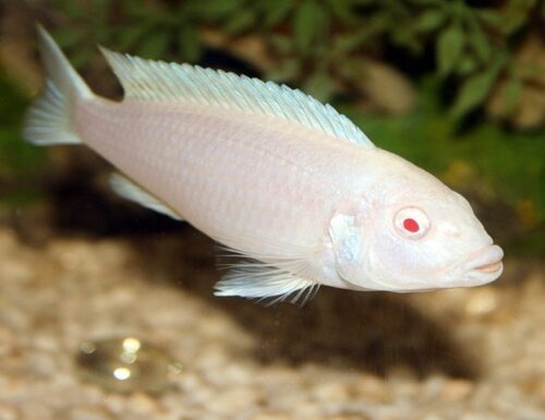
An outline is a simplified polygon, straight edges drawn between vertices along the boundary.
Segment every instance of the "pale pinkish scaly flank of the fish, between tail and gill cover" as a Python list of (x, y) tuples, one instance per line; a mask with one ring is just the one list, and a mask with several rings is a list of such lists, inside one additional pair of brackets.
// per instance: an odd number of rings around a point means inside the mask
[(351, 145), (296, 128), (284, 133), (240, 117), (142, 101), (82, 101), (76, 121), (84, 143), (213, 237), (251, 232), (318, 245), (338, 200), (331, 191), (350, 187), (335, 185), (331, 175), (347, 171), (350, 163), (340, 157), (353, 153)]

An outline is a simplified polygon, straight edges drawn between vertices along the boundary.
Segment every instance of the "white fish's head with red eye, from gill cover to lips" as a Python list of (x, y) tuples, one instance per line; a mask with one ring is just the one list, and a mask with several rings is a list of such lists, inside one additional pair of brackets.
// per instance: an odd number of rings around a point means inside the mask
[(398, 292), (498, 278), (504, 252), (469, 202), (432, 175), (410, 169), (383, 180), (359, 215), (346, 221), (350, 228), (338, 231), (339, 276), (355, 287)]

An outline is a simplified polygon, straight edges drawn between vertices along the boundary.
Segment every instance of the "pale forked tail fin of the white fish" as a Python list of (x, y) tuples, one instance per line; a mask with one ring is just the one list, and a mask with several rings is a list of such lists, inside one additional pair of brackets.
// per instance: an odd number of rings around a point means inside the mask
[(23, 137), (37, 145), (81, 143), (73, 123), (74, 104), (94, 94), (46, 29), (40, 25), (37, 29), (47, 79), (44, 93), (28, 110)]

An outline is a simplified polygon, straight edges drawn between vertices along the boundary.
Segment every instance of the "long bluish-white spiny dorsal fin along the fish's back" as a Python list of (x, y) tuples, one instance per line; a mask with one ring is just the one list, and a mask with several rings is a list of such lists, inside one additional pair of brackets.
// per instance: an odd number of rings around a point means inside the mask
[(374, 147), (347, 117), (299, 89), (221, 70), (144, 60), (106, 48), (100, 50), (119, 77), (125, 98), (174, 99), (277, 117), (361, 146)]

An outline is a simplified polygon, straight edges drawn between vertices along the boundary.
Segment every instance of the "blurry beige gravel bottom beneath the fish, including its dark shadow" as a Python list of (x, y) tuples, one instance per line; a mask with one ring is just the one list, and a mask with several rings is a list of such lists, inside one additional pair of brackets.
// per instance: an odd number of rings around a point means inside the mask
[[(0, 419), (545, 419), (545, 278), (507, 261), (467, 290), (322, 289), (306, 307), (211, 297), (201, 236), (0, 230)], [(82, 340), (137, 336), (181, 365), (168, 391), (82, 382)]]

